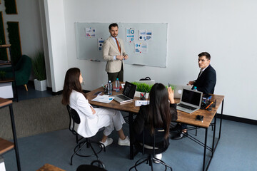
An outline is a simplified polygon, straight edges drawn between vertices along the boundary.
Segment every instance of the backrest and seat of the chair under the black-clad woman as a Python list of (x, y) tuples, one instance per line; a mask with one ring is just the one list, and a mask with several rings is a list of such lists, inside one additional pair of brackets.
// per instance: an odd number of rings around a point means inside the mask
[(137, 138), (136, 148), (143, 155), (144, 153), (155, 155), (166, 151), (169, 144), (165, 145), (166, 147), (158, 147), (166, 144), (166, 141), (168, 140), (165, 140), (165, 130), (163, 128), (156, 128), (153, 135), (151, 135), (149, 128), (144, 128), (143, 135), (139, 139)]

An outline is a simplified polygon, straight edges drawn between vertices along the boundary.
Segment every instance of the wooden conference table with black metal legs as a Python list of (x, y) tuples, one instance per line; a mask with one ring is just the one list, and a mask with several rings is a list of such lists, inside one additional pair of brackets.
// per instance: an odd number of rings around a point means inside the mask
[[(89, 103), (91, 105), (96, 105), (100, 107), (105, 107), (105, 108), (112, 108), (116, 110), (121, 110), (129, 113), (129, 135), (133, 133), (131, 123), (133, 123), (133, 115), (136, 115), (139, 111), (139, 107), (136, 107), (134, 103), (126, 103), (123, 105), (120, 105), (117, 103), (115, 100), (112, 100), (111, 103), (99, 103), (96, 101), (92, 101), (92, 99), (96, 98), (96, 95), (94, 93), (98, 91), (104, 91), (104, 88), (97, 88), (96, 90), (91, 90), (91, 92), (86, 93), (86, 98), (89, 100)], [(122, 93), (122, 90), (120, 92), (112, 92), (112, 95), (117, 95)], [(104, 92), (102, 93), (104, 94)], [(139, 98), (134, 98), (134, 100), (139, 100)], [(180, 99), (175, 99), (175, 102), (178, 103)], [(222, 115), (223, 115), (223, 102), (224, 102), (224, 95), (212, 95), (211, 101), (216, 100), (216, 107), (212, 108), (211, 111), (207, 110), (197, 110), (194, 113), (188, 114), (184, 113), (180, 110), (178, 110), (178, 120), (176, 122), (178, 123), (186, 123), (188, 125), (192, 125), (197, 128), (203, 128), (205, 129), (205, 140), (204, 143), (197, 140), (196, 138), (193, 138), (191, 136), (188, 136), (191, 140), (197, 142), (199, 145), (203, 146), (203, 170), (208, 170), (208, 166), (211, 163), (211, 159), (213, 157), (213, 154), (216, 150), (216, 147), (218, 145), (218, 141), (221, 138), (221, 124), (222, 124)], [(218, 133), (218, 140), (216, 140), (216, 114), (217, 110), (221, 105), (221, 121), (219, 125), (219, 133)], [(203, 122), (196, 120), (196, 115), (203, 115)], [(214, 121), (212, 123), (212, 120), (214, 118)], [(208, 137), (208, 127), (212, 125), (213, 126), (213, 140), (212, 140), (212, 145), (211, 147), (207, 146), (207, 137)], [(211, 151), (211, 157), (206, 163), (206, 149)], [(133, 160), (133, 145), (130, 146), (130, 158)]]

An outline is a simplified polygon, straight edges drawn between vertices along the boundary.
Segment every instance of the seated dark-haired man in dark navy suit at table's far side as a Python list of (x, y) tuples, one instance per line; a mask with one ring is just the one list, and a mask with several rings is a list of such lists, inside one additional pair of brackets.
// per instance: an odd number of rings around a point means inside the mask
[[(203, 94), (213, 94), (216, 85), (216, 71), (212, 68), (210, 62), (211, 55), (208, 52), (198, 54), (200, 73), (195, 81), (188, 82), (188, 85), (192, 86), (192, 89), (196, 87), (196, 89), (203, 92)], [(186, 135), (186, 124), (178, 124), (178, 126), (181, 127), (179, 128), (181, 131), (172, 137), (174, 140), (181, 139)]]

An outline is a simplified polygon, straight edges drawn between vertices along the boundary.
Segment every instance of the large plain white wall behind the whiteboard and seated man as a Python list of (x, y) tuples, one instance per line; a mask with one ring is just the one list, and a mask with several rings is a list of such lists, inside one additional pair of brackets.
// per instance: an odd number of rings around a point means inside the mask
[[(81, 68), (86, 81), (84, 89), (92, 90), (106, 83), (107, 74), (104, 62), (76, 59), (74, 22), (165, 22), (168, 23), (167, 67), (126, 65), (125, 80), (150, 76), (163, 84), (186, 84), (198, 76), (198, 53), (208, 51), (212, 57), (211, 65), (217, 73), (215, 93), (225, 95), (223, 113), (257, 120), (253, 107), (257, 95), (254, 90), (257, 81), (253, 76), (257, 56), (257, 1), (56, 1), (61, 6), (64, 4), (66, 47), (62, 50), (67, 52), (68, 68)], [(60, 7), (56, 5), (55, 8)], [(116, 13), (114, 8), (119, 12)], [(56, 16), (53, 14), (49, 19), (51, 17)], [(56, 56), (53, 54), (52, 58)], [(65, 72), (60, 74), (64, 77)]]

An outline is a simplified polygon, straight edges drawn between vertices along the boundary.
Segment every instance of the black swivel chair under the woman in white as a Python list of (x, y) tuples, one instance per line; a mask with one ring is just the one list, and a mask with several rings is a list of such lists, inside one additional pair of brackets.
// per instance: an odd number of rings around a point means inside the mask
[[(71, 155), (71, 165), (72, 165), (72, 158), (74, 157), (74, 155), (79, 155), (80, 157), (91, 157), (91, 156), (95, 155), (97, 160), (99, 160), (99, 157), (97, 154), (99, 154), (99, 152), (101, 152), (103, 150), (103, 148), (104, 148), (104, 151), (106, 151), (105, 145), (103, 143), (90, 140), (91, 137), (89, 137), (89, 138), (83, 137), (81, 140), (78, 140), (79, 133), (76, 132), (76, 128), (77, 128), (76, 125), (81, 123), (79, 114), (76, 112), (76, 110), (71, 108), (69, 105), (66, 105), (66, 107), (67, 107), (67, 110), (69, 113), (69, 118), (70, 118), (69, 130), (71, 131), (71, 133), (76, 135), (76, 140), (77, 140), (77, 145), (74, 148), (74, 154)], [(100, 147), (100, 150), (98, 152), (96, 152), (94, 150), (94, 147), (91, 145), (91, 143), (96, 143)], [(91, 150), (93, 150), (94, 153), (91, 155), (79, 154), (79, 152), (85, 145), (87, 148), (91, 147)]]

